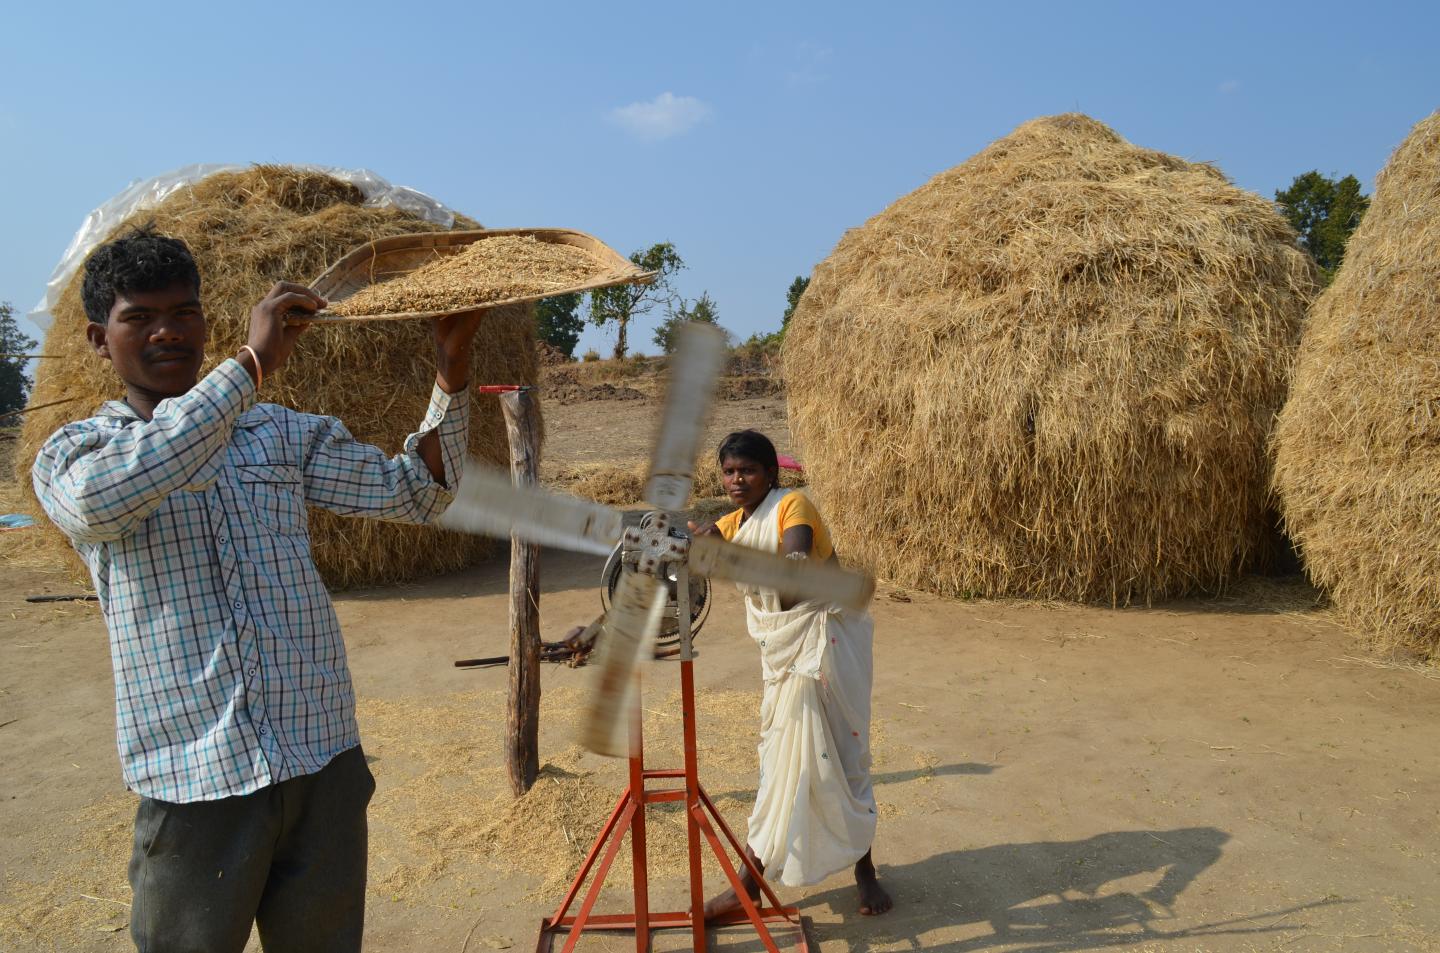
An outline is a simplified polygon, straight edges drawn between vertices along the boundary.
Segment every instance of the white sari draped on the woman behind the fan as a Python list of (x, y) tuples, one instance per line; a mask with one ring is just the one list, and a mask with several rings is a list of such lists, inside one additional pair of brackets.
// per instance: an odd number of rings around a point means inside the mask
[[(733, 543), (778, 553), (772, 489)], [(802, 602), (782, 610), (775, 590), (740, 586), (760, 646), (760, 786), (749, 844), (769, 877), (818, 884), (852, 867), (876, 836), (870, 785), (874, 625), (864, 612)]]

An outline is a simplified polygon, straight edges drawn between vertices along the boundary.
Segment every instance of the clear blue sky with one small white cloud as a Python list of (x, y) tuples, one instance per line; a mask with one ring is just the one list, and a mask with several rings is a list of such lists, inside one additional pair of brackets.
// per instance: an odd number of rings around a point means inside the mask
[(1037, 115), (1087, 112), (1270, 196), (1309, 168), (1368, 189), (1440, 107), (1433, 1), (140, 0), (3, 24), (0, 301), (20, 311), (131, 180), (305, 161), (488, 226), (671, 240), (681, 291), (743, 337), (847, 227)]

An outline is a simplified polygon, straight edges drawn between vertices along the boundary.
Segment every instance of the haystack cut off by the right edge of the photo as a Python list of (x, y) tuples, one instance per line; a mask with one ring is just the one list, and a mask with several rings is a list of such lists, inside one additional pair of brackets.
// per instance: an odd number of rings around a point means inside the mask
[(1342, 616), (1440, 654), (1440, 112), (1375, 180), (1276, 429), (1284, 525)]

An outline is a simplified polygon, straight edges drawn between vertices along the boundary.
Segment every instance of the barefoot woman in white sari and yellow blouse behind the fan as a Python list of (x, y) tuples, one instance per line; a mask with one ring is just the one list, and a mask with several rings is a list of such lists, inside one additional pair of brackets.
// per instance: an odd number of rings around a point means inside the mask
[[(775, 445), (756, 430), (720, 443), (726, 494), (739, 510), (703, 527), (789, 559), (832, 560), (829, 533), (804, 494), (782, 489)], [(782, 884), (818, 884), (854, 865), (860, 913), (890, 910), (870, 845), (876, 796), (870, 786), (870, 616), (838, 606), (782, 600), (742, 586), (750, 638), (760, 646), (760, 786), (750, 813), (750, 859)], [(749, 874), (750, 897), (759, 888)], [(706, 904), (706, 917), (740, 907), (734, 891)]]

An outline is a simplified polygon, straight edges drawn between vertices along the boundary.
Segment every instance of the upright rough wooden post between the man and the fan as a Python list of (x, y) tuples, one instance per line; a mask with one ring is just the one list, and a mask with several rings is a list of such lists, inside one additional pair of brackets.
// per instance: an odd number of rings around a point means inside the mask
[[(500, 394), (516, 485), (540, 476), (540, 415), (534, 392)], [(505, 769), (518, 798), (540, 773), (540, 547), (510, 537), (510, 700)]]

